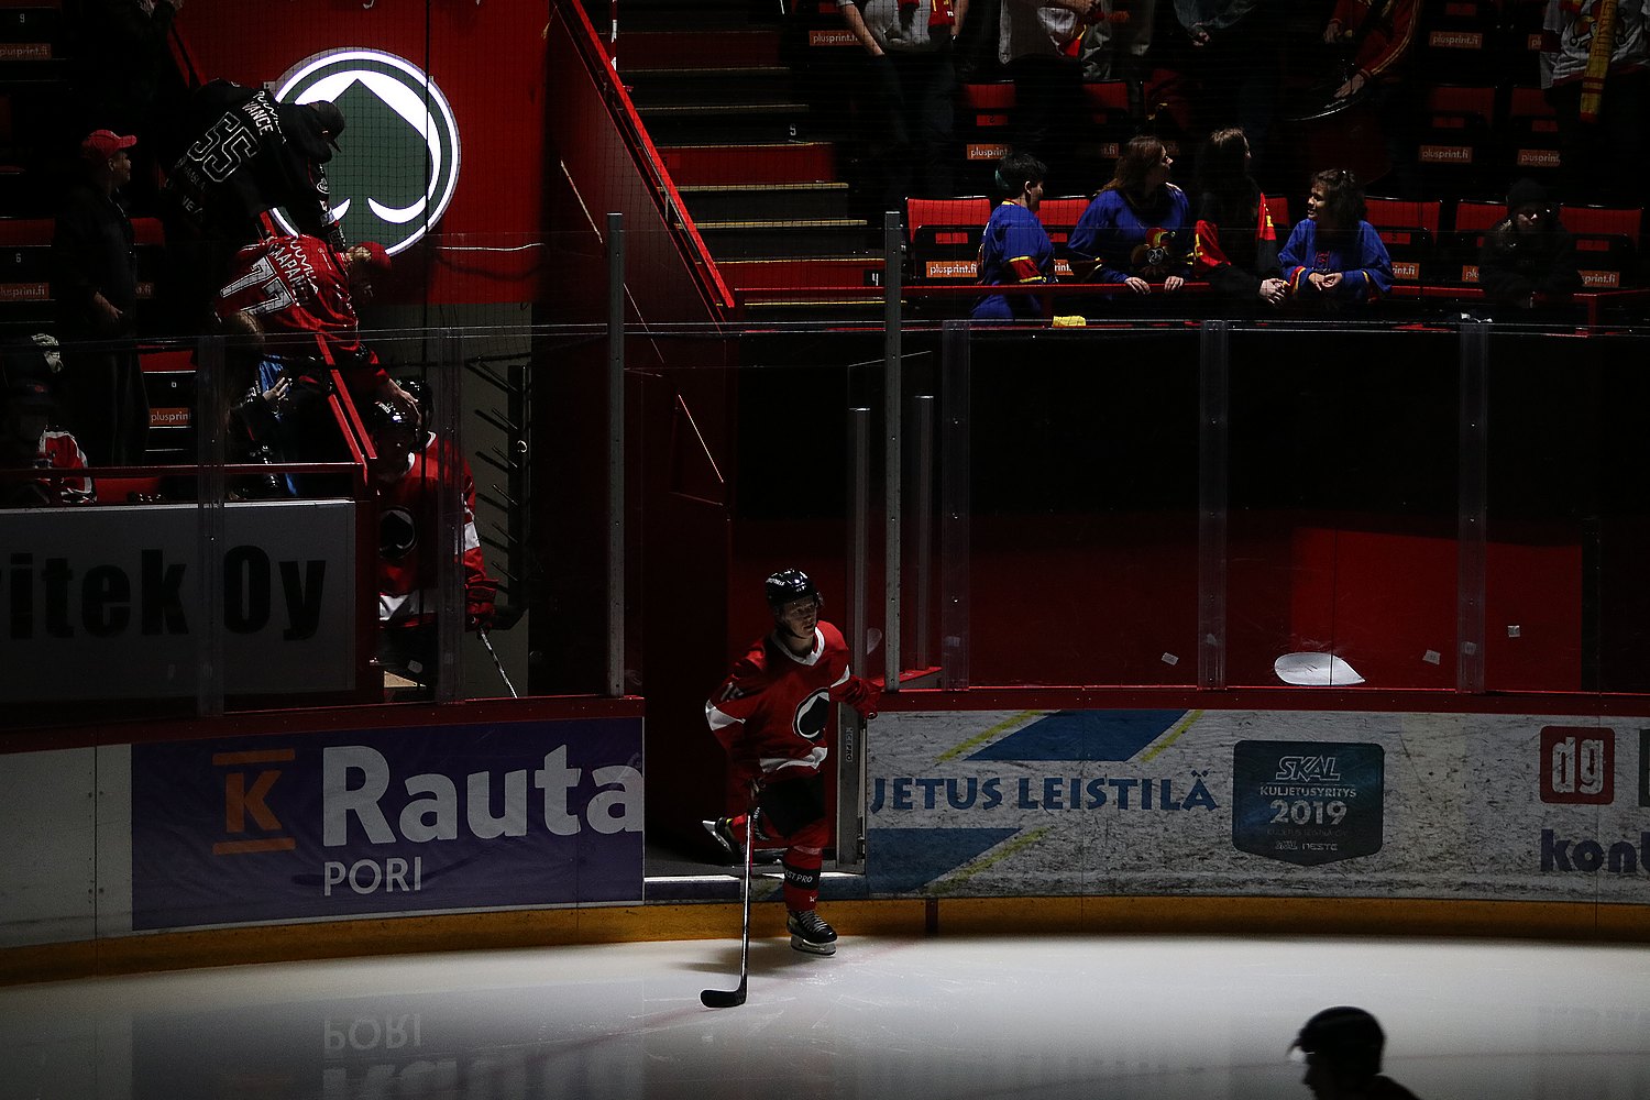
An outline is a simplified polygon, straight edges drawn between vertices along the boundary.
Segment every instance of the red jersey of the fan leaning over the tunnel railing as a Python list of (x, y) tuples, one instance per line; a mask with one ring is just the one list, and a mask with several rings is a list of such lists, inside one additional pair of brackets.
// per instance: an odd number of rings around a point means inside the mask
[[(373, 350), (361, 343), (343, 259), (320, 237), (271, 237), (236, 252), (229, 282), (218, 292), (218, 317), (241, 312), (256, 317), (269, 335), (318, 336), (356, 401), (370, 399), (388, 378)], [(271, 351), (279, 356), (284, 348)], [(285, 355), (304, 353), (285, 350)]]

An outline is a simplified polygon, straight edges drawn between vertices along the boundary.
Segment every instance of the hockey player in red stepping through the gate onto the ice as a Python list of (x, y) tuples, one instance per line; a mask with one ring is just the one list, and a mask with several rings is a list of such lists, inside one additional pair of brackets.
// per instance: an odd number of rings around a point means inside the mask
[[(837, 932), (815, 912), (820, 867), (830, 839), (825, 820), (825, 729), (832, 703), (876, 717), (881, 688), (848, 670), (848, 645), (820, 620), (820, 594), (800, 569), (767, 579), (774, 630), (751, 645), (705, 704), (711, 732), (728, 750), (733, 782), (756, 792), (751, 833), (784, 848), (790, 947), (837, 953)], [(744, 815), (706, 821), (733, 856), (744, 838)]]

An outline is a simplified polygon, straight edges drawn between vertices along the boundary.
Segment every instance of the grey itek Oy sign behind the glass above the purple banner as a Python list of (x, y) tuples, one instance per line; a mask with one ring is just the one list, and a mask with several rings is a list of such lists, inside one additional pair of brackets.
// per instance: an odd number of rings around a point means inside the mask
[[(198, 689), (211, 648), (195, 505), (0, 513), (0, 699), (157, 699)], [(355, 686), (355, 505), (224, 505), (229, 694)]]

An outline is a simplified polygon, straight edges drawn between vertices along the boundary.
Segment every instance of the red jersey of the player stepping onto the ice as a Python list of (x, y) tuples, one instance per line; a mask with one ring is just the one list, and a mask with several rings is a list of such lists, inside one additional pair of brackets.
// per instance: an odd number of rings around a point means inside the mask
[[(825, 762), (830, 704), (873, 714), (879, 691), (848, 670), (848, 643), (828, 622), (813, 628), (813, 648), (797, 656), (772, 635), (741, 656), (705, 704), (711, 732), (728, 750), (736, 780), (817, 772)], [(794, 769), (794, 770), (789, 770)]]

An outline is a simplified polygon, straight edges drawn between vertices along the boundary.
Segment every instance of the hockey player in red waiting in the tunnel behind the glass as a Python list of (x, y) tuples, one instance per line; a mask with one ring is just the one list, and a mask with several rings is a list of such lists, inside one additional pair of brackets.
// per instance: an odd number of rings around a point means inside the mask
[(419, 425), (417, 409), (401, 399), (366, 409), (373, 437), (373, 483), (378, 490), (378, 661), (431, 698), (439, 668), (437, 609), (441, 495), (459, 493), (464, 521), (464, 628), (482, 632), (497, 613), (498, 582), (487, 576), (475, 531), (475, 478), (470, 463), (446, 440)]

